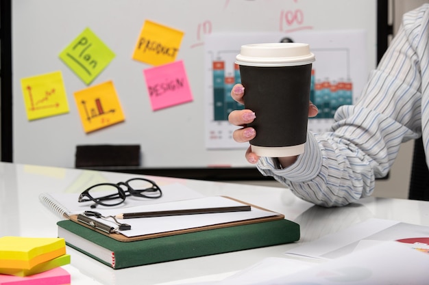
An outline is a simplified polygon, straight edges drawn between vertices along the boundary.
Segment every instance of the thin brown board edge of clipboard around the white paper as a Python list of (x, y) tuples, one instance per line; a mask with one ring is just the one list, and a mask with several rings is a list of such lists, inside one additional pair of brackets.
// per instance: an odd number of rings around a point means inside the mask
[[(268, 211), (271, 213), (275, 213), (273, 211), (267, 210), (265, 208), (262, 208), (260, 206), (256, 206), (254, 204), (249, 204), (247, 202), (243, 202), (241, 200), (237, 200), (234, 198), (230, 198), (228, 196), (221, 196), (223, 198), (228, 198), (230, 200), (234, 200), (236, 202), (239, 202), (241, 204), (245, 204), (245, 205), (249, 205), (252, 206), (254, 208), (258, 208), (260, 210), (263, 211)], [(169, 232), (159, 232), (156, 234), (143, 234), (140, 236), (124, 236), (123, 234), (120, 233), (108, 233), (108, 232), (104, 232), (103, 230), (99, 230), (97, 228), (94, 228), (93, 226), (90, 226), (86, 223), (82, 223), (81, 221), (77, 220), (78, 215), (70, 215), (69, 219), (71, 221), (74, 221), (75, 223), (79, 223), (79, 225), (84, 226), (86, 228), (90, 228), (91, 230), (94, 230), (96, 232), (99, 232), (100, 234), (103, 234), (105, 236), (109, 236), (112, 239), (115, 239), (117, 241), (121, 241), (121, 242), (131, 242), (131, 241), (143, 241), (146, 239), (156, 239), (156, 238), (160, 238), (160, 237), (164, 237), (164, 236), (173, 236), (176, 234), (186, 234), (189, 232), (201, 232), (204, 230), (215, 230), (215, 229), (219, 229), (219, 228), (228, 228), (228, 227), (233, 227), (233, 226), (241, 226), (241, 225), (247, 225), (247, 224), (251, 224), (251, 223), (262, 223), (265, 221), (276, 221), (276, 220), (280, 220), (280, 219), (284, 219), (284, 215), (280, 214), (280, 213), (275, 213), (275, 215), (273, 216), (269, 216), (269, 217), (260, 217), (257, 219), (246, 219), (243, 221), (232, 221), (229, 223), (218, 223), (218, 224), (214, 224), (214, 225), (210, 225), (210, 226), (203, 226), (203, 227), (198, 227), (198, 228), (186, 228), (183, 230), (172, 230)]]

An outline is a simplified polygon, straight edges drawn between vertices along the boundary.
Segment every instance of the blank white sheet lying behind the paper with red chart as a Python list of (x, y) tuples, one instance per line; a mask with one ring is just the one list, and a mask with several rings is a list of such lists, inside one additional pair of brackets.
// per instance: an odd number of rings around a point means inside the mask
[(328, 234), (316, 241), (310, 241), (289, 249), (285, 254), (330, 259), (356, 251), (360, 241), (363, 240), (397, 241), (400, 239), (428, 237), (428, 226), (388, 219), (368, 219), (340, 232)]

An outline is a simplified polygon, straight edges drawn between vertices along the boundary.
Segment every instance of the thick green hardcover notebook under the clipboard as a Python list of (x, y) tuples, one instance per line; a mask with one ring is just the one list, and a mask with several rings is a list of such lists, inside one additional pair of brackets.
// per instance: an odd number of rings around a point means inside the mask
[(287, 219), (121, 242), (70, 220), (58, 221), (66, 245), (113, 269), (208, 256), (299, 240), (299, 225)]

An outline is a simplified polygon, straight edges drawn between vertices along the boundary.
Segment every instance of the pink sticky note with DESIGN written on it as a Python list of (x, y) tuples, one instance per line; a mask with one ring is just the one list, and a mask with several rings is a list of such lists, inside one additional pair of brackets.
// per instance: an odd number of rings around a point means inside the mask
[(183, 61), (143, 70), (154, 111), (193, 100)]

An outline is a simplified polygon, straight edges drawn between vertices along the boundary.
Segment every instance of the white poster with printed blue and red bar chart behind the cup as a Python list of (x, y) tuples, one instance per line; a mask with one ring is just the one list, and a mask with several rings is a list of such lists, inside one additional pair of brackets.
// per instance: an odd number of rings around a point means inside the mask
[[(366, 33), (364, 30), (297, 31), (275, 33), (212, 33), (206, 36), (205, 120), (206, 148), (247, 148), (232, 139), (237, 126), (228, 122), (228, 115), (243, 105), (232, 100), (230, 92), (240, 83), (240, 71), (234, 63), (243, 44), (262, 42), (303, 42), (316, 56), (312, 64), (310, 100), (319, 108), (316, 118), (309, 118), (308, 129), (316, 133), (328, 131), (336, 109), (351, 105), (367, 81)], [(256, 115), (257, 116), (257, 115)]]

